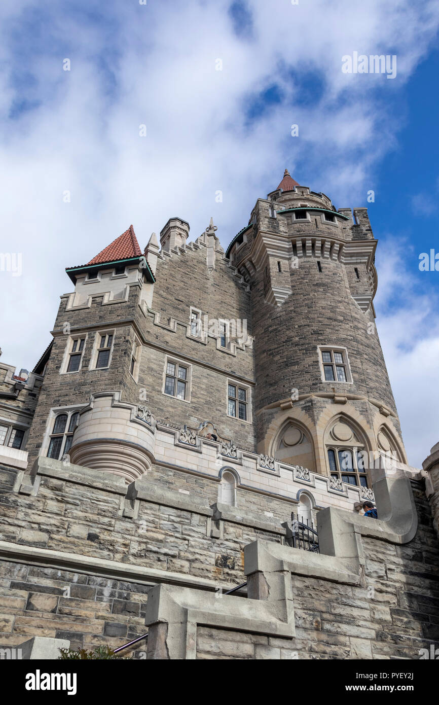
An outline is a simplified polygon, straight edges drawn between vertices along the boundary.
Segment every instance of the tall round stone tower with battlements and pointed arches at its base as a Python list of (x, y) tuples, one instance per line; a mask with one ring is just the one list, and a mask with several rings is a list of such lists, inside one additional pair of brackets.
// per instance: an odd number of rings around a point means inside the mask
[(379, 454), (407, 462), (375, 326), (367, 210), (336, 210), (285, 174), (228, 256), (252, 290), (258, 450), (370, 486)]

